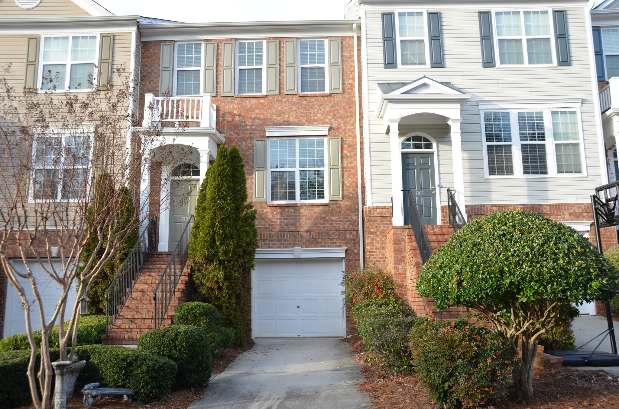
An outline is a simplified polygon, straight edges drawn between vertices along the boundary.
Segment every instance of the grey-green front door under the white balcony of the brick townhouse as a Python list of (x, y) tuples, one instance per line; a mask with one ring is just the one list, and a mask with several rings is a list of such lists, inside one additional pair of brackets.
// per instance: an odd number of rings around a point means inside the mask
[(189, 216), (195, 214), (197, 180), (172, 180), (170, 185), (170, 232), (168, 251), (174, 251)]

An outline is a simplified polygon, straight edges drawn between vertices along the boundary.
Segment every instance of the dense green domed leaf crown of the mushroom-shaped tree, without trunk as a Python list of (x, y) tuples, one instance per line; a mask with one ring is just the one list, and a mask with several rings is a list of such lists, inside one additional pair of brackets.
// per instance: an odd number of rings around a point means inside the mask
[(587, 238), (535, 213), (501, 211), (479, 217), (452, 235), (423, 266), (422, 297), (436, 308), (541, 300), (608, 300), (619, 274)]

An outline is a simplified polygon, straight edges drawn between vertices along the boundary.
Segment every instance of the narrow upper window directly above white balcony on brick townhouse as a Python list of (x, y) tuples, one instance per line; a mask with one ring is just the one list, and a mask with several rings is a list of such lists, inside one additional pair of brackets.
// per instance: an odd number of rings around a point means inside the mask
[(175, 95), (199, 95), (202, 78), (202, 43), (176, 44)]

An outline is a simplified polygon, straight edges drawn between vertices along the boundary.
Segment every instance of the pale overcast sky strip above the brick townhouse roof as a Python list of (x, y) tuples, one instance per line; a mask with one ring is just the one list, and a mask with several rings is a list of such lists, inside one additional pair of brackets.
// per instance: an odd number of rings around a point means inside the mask
[(348, 0), (96, 0), (116, 15), (186, 23), (340, 20)]

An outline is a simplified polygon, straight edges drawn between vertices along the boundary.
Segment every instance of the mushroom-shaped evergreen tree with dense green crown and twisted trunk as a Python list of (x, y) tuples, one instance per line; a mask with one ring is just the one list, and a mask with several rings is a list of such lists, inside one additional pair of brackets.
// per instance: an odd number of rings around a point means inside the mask
[(438, 309), (477, 311), (519, 349), (514, 384), (517, 397), (529, 400), (540, 337), (578, 315), (574, 303), (615, 295), (619, 275), (576, 230), (539, 214), (502, 211), (452, 235), (423, 266), (417, 289)]

